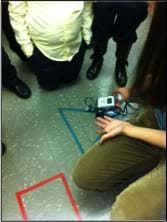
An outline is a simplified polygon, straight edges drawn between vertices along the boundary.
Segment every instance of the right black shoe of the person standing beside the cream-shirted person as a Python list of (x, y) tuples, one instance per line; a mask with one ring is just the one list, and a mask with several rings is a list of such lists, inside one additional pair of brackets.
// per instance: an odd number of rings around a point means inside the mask
[(115, 79), (118, 86), (126, 86), (127, 84), (127, 73), (126, 66), (128, 66), (127, 61), (117, 59), (115, 66)]

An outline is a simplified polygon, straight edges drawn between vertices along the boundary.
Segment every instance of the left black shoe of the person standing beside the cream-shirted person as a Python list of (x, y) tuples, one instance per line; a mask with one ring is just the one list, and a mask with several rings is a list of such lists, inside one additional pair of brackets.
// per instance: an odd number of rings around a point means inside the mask
[(93, 60), (86, 74), (87, 79), (89, 80), (95, 79), (98, 76), (102, 65), (103, 65), (103, 60), (99, 61)]

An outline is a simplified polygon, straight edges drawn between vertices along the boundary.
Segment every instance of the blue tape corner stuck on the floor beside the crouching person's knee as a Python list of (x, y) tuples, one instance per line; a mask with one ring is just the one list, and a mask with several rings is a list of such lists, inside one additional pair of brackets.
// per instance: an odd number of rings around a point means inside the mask
[(66, 126), (68, 127), (68, 129), (69, 129), (69, 131), (70, 131), (70, 133), (71, 133), (75, 143), (77, 144), (80, 153), (83, 154), (84, 153), (84, 149), (83, 149), (83, 147), (82, 147), (82, 145), (81, 145), (81, 143), (80, 143), (80, 141), (79, 141), (79, 139), (78, 139), (74, 129), (72, 128), (72, 126), (71, 126), (70, 122), (68, 121), (68, 119), (67, 119), (67, 117), (66, 117), (64, 112), (65, 111), (87, 112), (87, 111), (82, 110), (82, 109), (71, 109), (71, 108), (59, 108), (58, 111), (59, 111), (62, 119), (64, 120)]

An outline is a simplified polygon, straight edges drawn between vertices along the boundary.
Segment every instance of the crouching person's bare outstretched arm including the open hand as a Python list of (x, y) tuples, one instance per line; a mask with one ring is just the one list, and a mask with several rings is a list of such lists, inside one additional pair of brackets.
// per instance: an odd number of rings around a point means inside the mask
[(103, 135), (100, 143), (117, 135), (125, 135), (161, 148), (166, 148), (165, 131), (134, 126), (129, 122), (112, 119), (107, 116), (97, 118), (96, 125), (102, 128), (102, 130), (97, 130), (98, 134)]

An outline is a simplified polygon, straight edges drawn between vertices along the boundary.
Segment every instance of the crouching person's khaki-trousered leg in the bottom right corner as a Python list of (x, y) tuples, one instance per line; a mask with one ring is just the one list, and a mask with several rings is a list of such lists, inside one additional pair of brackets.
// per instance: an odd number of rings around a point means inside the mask
[(165, 220), (166, 163), (129, 185), (112, 206), (111, 220)]

